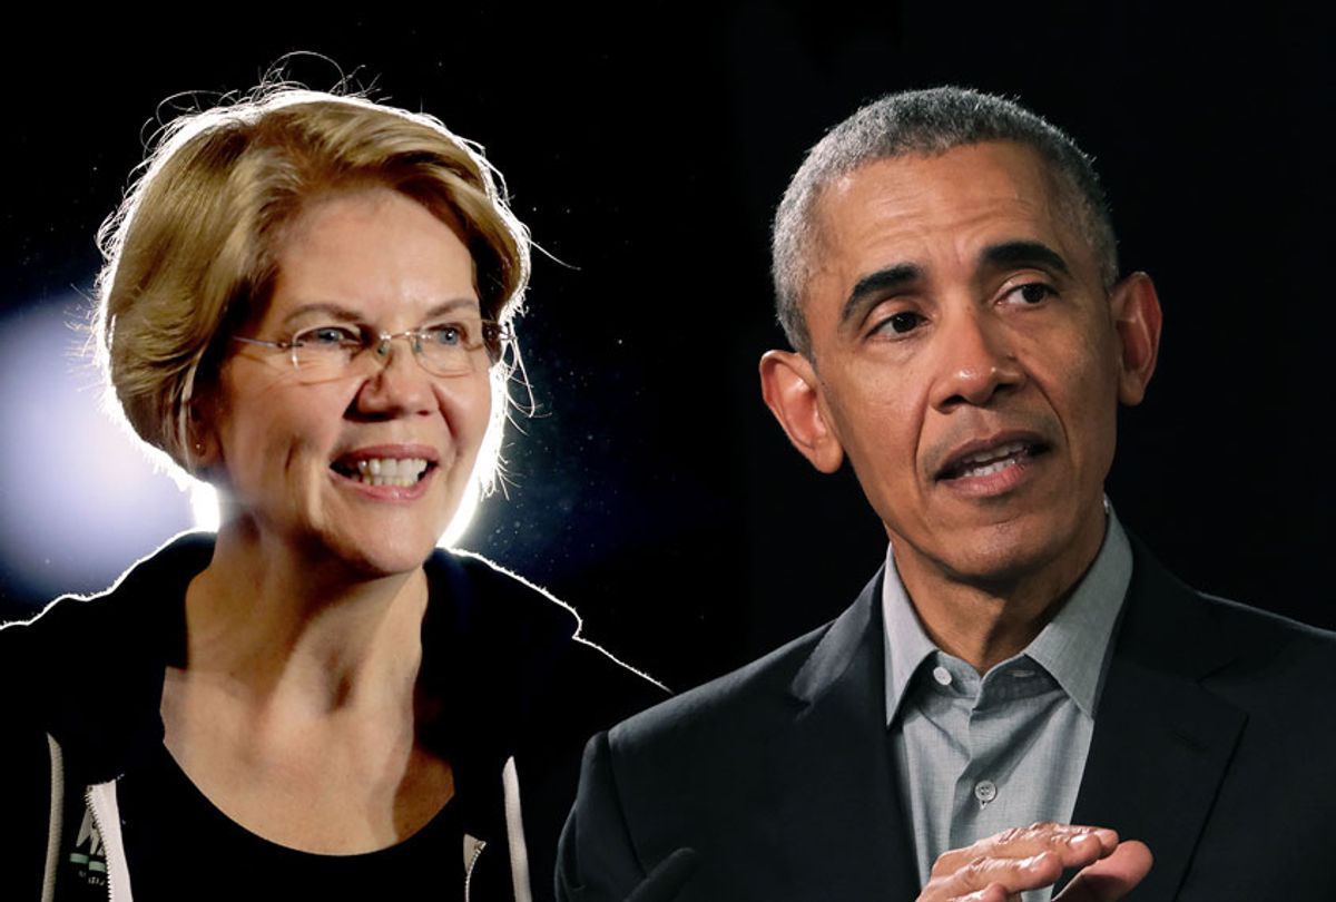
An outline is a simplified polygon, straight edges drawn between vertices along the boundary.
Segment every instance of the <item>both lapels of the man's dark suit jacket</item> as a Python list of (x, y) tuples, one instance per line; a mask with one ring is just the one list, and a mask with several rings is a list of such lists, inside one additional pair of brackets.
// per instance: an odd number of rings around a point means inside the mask
[[(1156, 866), (1141, 889), (1148, 898), (1172, 898), (1246, 720), (1201, 680), (1240, 649), (1214, 628), (1201, 596), (1130, 539), (1132, 583), (1073, 822), (1113, 827), (1150, 846)], [(886, 881), (880, 895), (899, 898), (886, 887), (900, 886), (903, 898), (912, 898), (911, 831), (884, 742), (882, 579), (878, 572), (831, 624), (790, 684), (795, 724), (806, 734), (794, 772), (804, 775), (804, 787), (819, 787), (795, 795), (822, 810), (820, 819), (804, 823), (835, 830), (823, 854), (836, 862), (863, 857), (846, 873), (875, 871)]]

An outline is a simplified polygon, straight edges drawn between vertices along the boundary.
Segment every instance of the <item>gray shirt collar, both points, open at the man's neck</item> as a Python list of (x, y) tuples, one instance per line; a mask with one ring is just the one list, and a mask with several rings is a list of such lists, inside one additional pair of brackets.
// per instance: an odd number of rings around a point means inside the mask
[[(1132, 545), (1112, 505), (1100, 553), (1053, 620), (1022, 655), (1043, 667), (1077, 707), (1093, 718), (1108, 665), (1108, 652), (1122, 600), (1132, 581)], [(910, 680), (925, 659), (938, 651), (914, 611), (895, 569), (895, 549), (886, 551), (882, 581), (886, 625), (886, 723), (899, 712)]]

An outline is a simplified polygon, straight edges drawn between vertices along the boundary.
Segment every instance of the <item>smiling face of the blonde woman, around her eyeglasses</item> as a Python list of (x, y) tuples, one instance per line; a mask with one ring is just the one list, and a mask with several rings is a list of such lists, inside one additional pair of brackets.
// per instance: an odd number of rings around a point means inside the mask
[[(454, 230), (389, 188), (322, 198), (278, 251), (273, 298), (247, 337), (287, 341), (325, 325), (402, 333), (480, 315), (473, 259)], [(369, 576), (420, 567), (486, 432), (488, 361), (474, 357), (472, 371), (432, 375), (397, 338), (383, 365), (367, 350), (347, 374), (307, 384), (289, 351), (236, 342), (204, 412), (206, 462), (226, 474), (227, 516), (313, 561)], [(371, 470), (407, 485), (375, 485)]]

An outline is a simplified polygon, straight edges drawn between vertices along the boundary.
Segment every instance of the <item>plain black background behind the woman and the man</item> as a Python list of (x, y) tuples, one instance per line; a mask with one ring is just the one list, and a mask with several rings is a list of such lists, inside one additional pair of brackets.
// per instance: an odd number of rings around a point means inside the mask
[[(1165, 305), (1109, 482), (1124, 522), (1202, 589), (1336, 627), (1332, 32), (1276, 4), (1162, 5), (52, 13), (3, 39), (0, 299), (88, 289), (168, 95), (246, 90), (306, 49), (436, 114), (485, 144), (549, 254), (521, 322), (540, 414), (509, 433), (510, 497), (464, 544), (681, 688), (834, 616), (884, 555), (852, 477), (811, 470), (758, 390), (782, 343), (767, 230), (788, 175), (882, 92), (1003, 92), (1097, 158), (1124, 270)], [(41, 601), (3, 560), (0, 595), (8, 615)]]

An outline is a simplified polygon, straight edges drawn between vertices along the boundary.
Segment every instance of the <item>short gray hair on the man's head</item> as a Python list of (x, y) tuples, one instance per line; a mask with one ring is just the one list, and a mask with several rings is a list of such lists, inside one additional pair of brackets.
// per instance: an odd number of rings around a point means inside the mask
[(802, 302), (818, 239), (816, 202), (827, 186), (879, 159), (935, 155), (991, 140), (1026, 144), (1049, 164), (1070, 195), (1078, 224), (1100, 263), (1104, 287), (1113, 287), (1118, 281), (1118, 249), (1109, 204), (1090, 158), (1070, 136), (1011, 100), (969, 88), (888, 94), (835, 126), (807, 152), (775, 212), (775, 311), (795, 350), (811, 355)]

